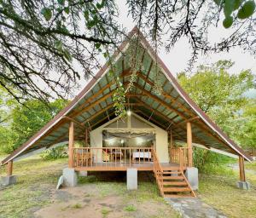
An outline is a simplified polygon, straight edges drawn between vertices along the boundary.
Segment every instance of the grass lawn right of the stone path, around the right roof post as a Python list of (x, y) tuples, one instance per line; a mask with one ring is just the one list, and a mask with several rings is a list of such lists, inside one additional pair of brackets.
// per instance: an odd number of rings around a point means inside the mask
[(246, 191), (236, 187), (236, 181), (239, 179), (237, 171), (231, 175), (223, 173), (224, 171), (220, 175), (200, 175), (199, 197), (207, 204), (223, 211), (228, 217), (255, 217), (256, 175), (247, 173), (247, 181), (252, 187)]

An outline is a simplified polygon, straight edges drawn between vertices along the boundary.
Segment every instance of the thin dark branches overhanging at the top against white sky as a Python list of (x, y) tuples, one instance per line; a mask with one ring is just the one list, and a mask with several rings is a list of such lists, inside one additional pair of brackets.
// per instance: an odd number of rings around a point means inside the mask
[[(126, 5), (156, 51), (165, 34), (166, 49), (187, 37), (191, 60), (198, 52), (234, 46), (255, 54), (252, 0), (126, 0)], [(207, 32), (223, 19), (223, 12), (230, 35), (210, 43)], [(118, 14), (116, 3), (107, 0), (0, 0), (0, 85), (16, 100), (67, 95), (76, 79), (93, 76), (100, 66), (97, 54), (109, 59), (125, 36)]]

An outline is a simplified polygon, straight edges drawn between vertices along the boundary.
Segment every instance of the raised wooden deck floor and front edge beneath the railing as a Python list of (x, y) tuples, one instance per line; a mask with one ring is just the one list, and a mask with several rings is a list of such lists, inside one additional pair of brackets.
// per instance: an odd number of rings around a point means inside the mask
[[(179, 169), (178, 164), (161, 164), (163, 169)], [(77, 171), (126, 171), (129, 168), (136, 168), (138, 171), (153, 171), (153, 162), (147, 163), (93, 163), (91, 166), (75, 167)]]

